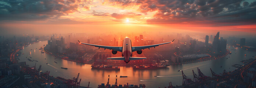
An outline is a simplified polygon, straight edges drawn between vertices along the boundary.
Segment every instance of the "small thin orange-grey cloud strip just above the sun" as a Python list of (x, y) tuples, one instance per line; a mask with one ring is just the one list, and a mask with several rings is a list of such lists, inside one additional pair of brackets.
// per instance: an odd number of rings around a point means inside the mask
[(125, 14), (117, 14), (117, 13), (104, 13), (104, 12), (92, 12), (93, 16), (101, 16), (101, 17), (113, 17), (115, 19), (126, 19), (126, 18), (135, 18), (141, 16), (141, 14), (136, 14), (134, 12), (127, 12)]

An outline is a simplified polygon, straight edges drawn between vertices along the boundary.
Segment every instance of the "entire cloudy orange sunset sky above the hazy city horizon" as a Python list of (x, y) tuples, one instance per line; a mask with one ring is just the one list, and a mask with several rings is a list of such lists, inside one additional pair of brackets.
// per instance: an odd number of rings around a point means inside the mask
[(125, 25), (135, 29), (147, 26), (256, 33), (256, 1), (0, 0), (0, 24), (2, 30), (58, 29), (63, 25), (76, 29), (113, 25), (110, 29), (122, 29)]

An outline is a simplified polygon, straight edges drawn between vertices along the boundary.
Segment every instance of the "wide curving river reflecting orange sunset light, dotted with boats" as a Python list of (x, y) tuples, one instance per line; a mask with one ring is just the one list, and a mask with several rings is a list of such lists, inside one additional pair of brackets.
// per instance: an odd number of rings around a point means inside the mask
[[(236, 67), (232, 67), (234, 64), (244, 65), (241, 60), (255, 58), (252, 56), (256, 55), (256, 52), (246, 51), (244, 49), (234, 50), (233, 47), (227, 46), (232, 54), (225, 56), (224, 58), (216, 59), (216, 60), (207, 60), (204, 62), (197, 63), (188, 63), (184, 65), (172, 65), (168, 66), (164, 69), (146, 69), (146, 70), (133, 70), (132, 67), (121, 67), (120, 70), (98, 70), (91, 69), (91, 65), (71, 62), (63, 59), (55, 58), (46, 53), (42, 54), (40, 50), (36, 48), (43, 47), (43, 44), (47, 44), (47, 41), (42, 41), (40, 43), (32, 44), (28, 47), (24, 47), (21, 50), (21, 55), (19, 57), (19, 62), (26, 62), (26, 64), (30, 66), (34, 66), (36, 63), (36, 67), (42, 65), (42, 71), (46, 70), (50, 71), (50, 76), (60, 76), (63, 78), (72, 78), (77, 76), (80, 73), (80, 78), (82, 78), (81, 86), (87, 86), (90, 81), (90, 87), (97, 87), (100, 83), (107, 83), (107, 76), (110, 74), (110, 84), (115, 83), (115, 75), (118, 75), (117, 82), (118, 84), (146, 84), (146, 87), (164, 87), (168, 85), (168, 82), (172, 82), (173, 85), (181, 85), (182, 84), (182, 74), (181, 72), (177, 72), (178, 70), (183, 70), (186, 76), (192, 77), (192, 69), (196, 70), (196, 67), (206, 75), (211, 76), (210, 68), (218, 73), (222, 73), (224, 69), (227, 71), (235, 70)], [(32, 50), (31, 50), (32, 49)], [(34, 51), (34, 49), (36, 49)], [(29, 55), (29, 51), (31, 54)], [(244, 56), (244, 55), (247, 56)], [(29, 57), (32, 58), (29, 58)], [(228, 58), (230, 56), (230, 58)], [(28, 59), (38, 60), (38, 62), (30, 62)], [(46, 59), (45, 59), (46, 58)], [(226, 59), (228, 58), (228, 59)], [(57, 62), (57, 63), (54, 63)], [(49, 64), (46, 64), (49, 63)], [(221, 67), (222, 66), (222, 67)], [(68, 69), (61, 69), (61, 67), (67, 67)], [(128, 76), (127, 78), (120, 78), (119, 76)], [(157, 77), (154, 77), (157, 76)]]

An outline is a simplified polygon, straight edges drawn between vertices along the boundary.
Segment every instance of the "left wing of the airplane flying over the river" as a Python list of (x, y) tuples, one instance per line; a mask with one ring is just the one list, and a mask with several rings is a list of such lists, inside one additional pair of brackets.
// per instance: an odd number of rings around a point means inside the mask
[[(79, 43), (81, 43), (79, 40), (78, 40)], [(112, 47), (112, 46), (104, 46), (104, 45), (94, 45), (94, 44), (88, 44), (88, 43), (81, 43), (81, 44), (86, 44), (86, 45), (92, 45), (92, 46), (95, 46), (95, 47), (99, 47), (100, 48), (104, 48), (104, 49), (112, 49), (112, 50), (115, 50), (115, 51), (119, 51), (119, 52), (122, 52), (122, 47)]]

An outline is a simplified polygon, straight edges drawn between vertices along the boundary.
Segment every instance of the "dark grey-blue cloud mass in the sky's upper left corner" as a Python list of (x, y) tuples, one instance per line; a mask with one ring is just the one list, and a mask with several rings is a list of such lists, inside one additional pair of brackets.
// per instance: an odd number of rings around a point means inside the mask
[(78, 9), (89, 10), (89, 4), (87, 0), (1, 0), (0, 20), (54, 19), (78, 12)]

